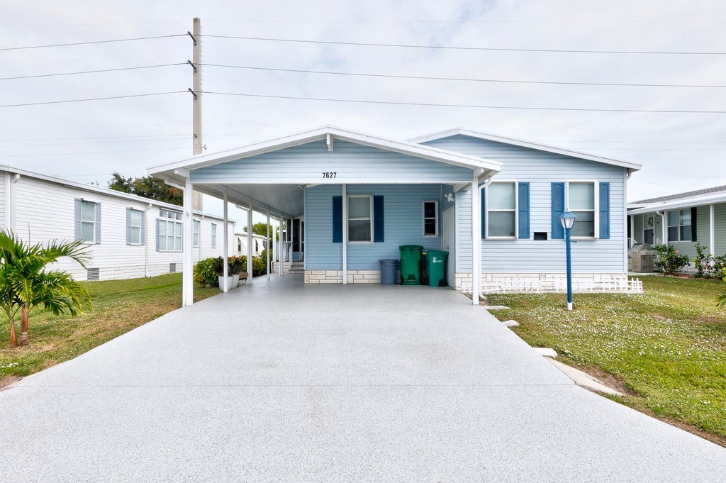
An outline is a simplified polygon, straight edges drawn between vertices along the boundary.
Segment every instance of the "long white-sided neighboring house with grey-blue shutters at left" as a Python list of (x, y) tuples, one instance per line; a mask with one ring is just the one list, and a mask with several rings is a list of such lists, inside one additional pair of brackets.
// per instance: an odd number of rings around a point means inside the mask
[[(0, 227), (30, 243), (86, 240), (87, 269), (59, 263), (78, 280), (181, 272), (182, 208), (128, 193), (0, 165)], [(224, 221), (194, 213), (194, 261), (221, 256)], [(234, 222), (228, 225), (234, 253)]]

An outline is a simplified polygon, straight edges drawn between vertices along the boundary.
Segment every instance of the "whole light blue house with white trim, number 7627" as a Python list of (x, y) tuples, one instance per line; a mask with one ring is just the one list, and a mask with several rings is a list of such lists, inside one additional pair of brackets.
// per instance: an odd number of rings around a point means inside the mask
[(398, 141), (326, 126), (149, 173), (184, 188), (187, 213), (193, 189), (280, 219), (306, 283), (378, 283), (379, 260), (415, 244), (449, 251), (447, 283), (470, 285), (476, 304), (482, 284), (563, 283), (567, 210), (575, 279), (625, 279), (626, 182), (638, 169), (465, 129)]

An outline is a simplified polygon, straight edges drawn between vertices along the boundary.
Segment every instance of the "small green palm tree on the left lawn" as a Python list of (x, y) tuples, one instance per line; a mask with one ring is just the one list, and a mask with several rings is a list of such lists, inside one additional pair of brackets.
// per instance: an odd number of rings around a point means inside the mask
[(75, 317), (91, 300), (88, 291), (68, 273), (46, 270), (63, 257), (86, 267), (88, 253), (82, 240), (54, 240), (47, 246), (30, 245), (12, 232), (0, 230), (0, 307), (10, 321), (10, 339), (17, 347), (15, 316), (20, 310), (20, 345), (28, 344), (28, 314), (38, 306), (54, 315)]

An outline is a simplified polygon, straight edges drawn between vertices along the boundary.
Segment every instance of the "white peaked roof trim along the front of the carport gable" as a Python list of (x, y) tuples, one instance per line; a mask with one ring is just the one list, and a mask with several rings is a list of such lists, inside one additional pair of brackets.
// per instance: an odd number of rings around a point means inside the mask
[(197, 155), (181, 161), (152, 166), (147, 171), (149, 174), (158, 174), (164, 171), (174, 171), (174, 169), (179, 168), (199, 169), (205, 166), (226, 163), (227, 161), (249, 158), (250, 156), (261, 155), (264, 153), (272, 153), (273, 151), (282, 150), (286, 147), (303, 145), (308, 142), (322, 139), (330, 140), (329, 144), (332, 144), (333, 138), (337, 138), (342, 141), (354, 142), (359, 145), (378, 147), (379, 149), (405, 155), (412, 155), (417, 158), (425, 158), (430, 159), (431, 161), (453, 164), (455, 166), (463, 166), (470, 169), (481, 168), (486, 171), (493, 171), (492, 174), (495, 174), (502, 169), (502, 163), (499, 163), (499, 161), (454, 153), (453, 151), (441, 150), (436, 147), (417, 145), (412, 142), (385, 139), (334, 126), (324, 126), (312, 131), (305, 131), (298, 134), (292, 134), (290, 136), (279, 137), (277, 139), (270, 139), (269, 141), (236, 147), (230, 150), (219, 151), (218, 153)]

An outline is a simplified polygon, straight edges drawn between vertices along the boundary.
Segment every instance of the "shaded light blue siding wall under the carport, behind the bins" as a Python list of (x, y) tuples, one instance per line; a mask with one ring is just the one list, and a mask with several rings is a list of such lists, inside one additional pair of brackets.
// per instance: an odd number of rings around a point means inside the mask
[[(337, 144), (336, 144), (337, 146)], [(423, 201), (439, 200), (439, 184), (348, 184), (348, 195), (383, 195), (386, 240), (381, 243), (348, 243), (348, 269), (375, 270), (380, 259), (398, 259), (399, 245), (423, 245), (441, 249), (441, 237), (423, 237)], [(306, 269), (343, 268), (343, 244), (333, 243), (333, 196), (342, 189), (316, 186), (306, 190)], [(439, 232), (441, 229), (439, 228)]]

